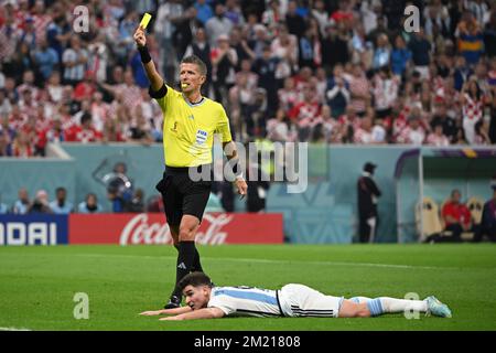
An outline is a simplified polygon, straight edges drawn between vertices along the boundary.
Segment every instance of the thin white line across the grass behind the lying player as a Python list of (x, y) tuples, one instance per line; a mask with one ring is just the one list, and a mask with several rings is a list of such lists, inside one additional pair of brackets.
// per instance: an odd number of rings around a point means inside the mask
[[(148, 256), (148, 255), (109, 255), (109, 254), (77, 254), (72, 256), (79, 257), (118, 257), (118, 258), (143, 258), (143, 259), (176, 259), (175, 256)], [(258, 263), (258, 264), (305, 264), (319, 266), (352, 266), (352, 267), (382, 267), (398, 269), (456, 269), (456, 267), (434, 267), (434, 266), (412, 266), (412, 265), (391, 265), (391, 264), (374, 264), (374, 263), (343, 263), (343, 261), (300, 261), (300, 260), (277, 260), (262, 258), (208, 258), (207, 261), (233, 261), (233, 263)]]

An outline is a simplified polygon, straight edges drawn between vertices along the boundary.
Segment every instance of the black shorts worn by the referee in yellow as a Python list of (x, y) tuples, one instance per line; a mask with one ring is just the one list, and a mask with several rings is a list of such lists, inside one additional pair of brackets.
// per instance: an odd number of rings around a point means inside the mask
[[(211, 164), (192, 168), (198, 172), (208, 169), (208, 176), (212, 176)], [(163, 179), (155, 186), (162, 194), (165, 217), (170, 226), (179, 226), (185, 214), (195, 216), (202, 222), (211, 195), (212, 178), (207, 181), (193, 181), (188, 171), (190, 168), (165, 167)]]

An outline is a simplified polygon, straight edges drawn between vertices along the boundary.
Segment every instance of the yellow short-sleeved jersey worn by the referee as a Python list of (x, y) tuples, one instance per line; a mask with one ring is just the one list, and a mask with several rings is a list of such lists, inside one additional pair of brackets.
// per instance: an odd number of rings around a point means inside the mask
[(163, 150), (165, 165), (197, 167), (212, 163), (214, 133), (229, 142), (229, 120), (224, 107), (206, 97), (191, 104), (182, 93), (166, 87), (150, 95), (163, 113)]

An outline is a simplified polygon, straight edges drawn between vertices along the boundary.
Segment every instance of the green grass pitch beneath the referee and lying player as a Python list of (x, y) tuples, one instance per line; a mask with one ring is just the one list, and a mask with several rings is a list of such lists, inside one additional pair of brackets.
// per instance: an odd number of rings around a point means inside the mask
[[(200, 246), (218, 286), (277, 289), (300, 282), (322, 292), (446, 302), (452, 319), (402, 314), (367, 319), (228, 318), (163, 322), (175, 277), (172, 246), (0, 247), (0, 328), (30, 330), (496, 330), (496, 246), (280, 245)], [(76, 320), (76, 292), (89, 319)]]

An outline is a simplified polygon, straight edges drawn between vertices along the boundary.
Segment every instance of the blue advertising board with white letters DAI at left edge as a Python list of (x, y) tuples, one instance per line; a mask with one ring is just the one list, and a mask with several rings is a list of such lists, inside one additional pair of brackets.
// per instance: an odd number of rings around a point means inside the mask
[(0, 215), (0, 245), (67, 244), (66, 215)]

